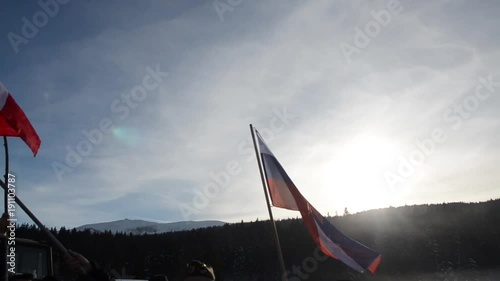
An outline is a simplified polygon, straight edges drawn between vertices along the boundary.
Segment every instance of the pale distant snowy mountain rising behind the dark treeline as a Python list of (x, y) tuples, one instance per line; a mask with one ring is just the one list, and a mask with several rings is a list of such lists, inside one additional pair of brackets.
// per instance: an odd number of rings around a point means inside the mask
[(183, 222), (171, 222), (171, 223), (158, 223), (143, 220), (118, 220), (111, 222), (102, 222), (94, 224), (86, 224), (77, 227), (77, 230), (90, 229), (92, 231), (101, 232), (109, 230), (111, 232), (126, 232), (132, 234), (153, 234), (153, 233), (164, 233), (172, 231), (182, 231), (191, 230), (196, 228), (204, 228), (210, 226), (221, 226), (224, 225), (223, 221), (183, 221)]

